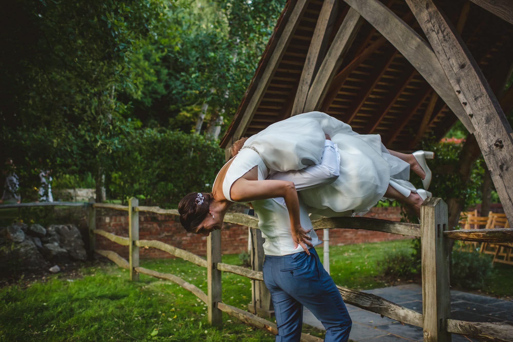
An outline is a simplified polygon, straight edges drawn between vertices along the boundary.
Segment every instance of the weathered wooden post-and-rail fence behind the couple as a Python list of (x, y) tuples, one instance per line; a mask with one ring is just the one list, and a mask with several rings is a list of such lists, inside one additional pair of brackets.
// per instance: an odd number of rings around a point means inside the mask
[[(210, 233), (207, 239), (207, 259), (186, 250), (173, 247), (160, 241), (139, 240), (139, 212), (178, 215), (177, 210), (159, 207), (139, 206), (135, 198), (128, 206), (103, 203), (89, 203), (89, 239), (90, 248), (112, 260), (120, 267), (129, 269), (130, 279), (139, 280), (139, 274), (147, 274), (160, 279), (170, 280), (192, 292), (208, 305), (208, 321), (212, 325), (222, 324), (222, 312), (226, 312), (243, 322), (270, 333), (277, 334), (275, 324), (247, 311), (227, 305), (221, 297), (221, 271), (239, 274), (252, 280), (262, 281), (262, 272), (241, 266), (221, 262), (221, 232)], [(75, 204), (76, 205), (76, 204)], [(17, 205), (9, 205), (17, 206)], [(2, 208), (4, 206), (0, 206)], [(116, 236), (95, 228), (96, 208), (109, 208), (128, 211), (128, 238)], [(241, 213), (227, 213), (225, 222), (258, 228), (258, 220)], [(323, 218), (312, 222), (313, 228), (345, 228), (384, 231), (405, 236), (421, 237), (422, 245), (422, 314), (392, 303), (383, 297), (356, 291), (343, 286), (339, 288), (344, 302), (362, 309), (396, 319), (399, 322), (422, 327), (424, 341), (450, 341), (450, 333), (484, 338), (492, 341), (513, 340), (513, 326), (502, 323), (466, 322), (450, 318), (449, 288), (449, 239), (491, 243), (512, 243), (513, 228), (501, 229), (465, 229), (448, 230), (447, 205), (440, 198), (428, 198), (421, 206), (421, 224), (402, 223), (371, 218)], [(95, 249), (95, 234), (129, 248), (129, 260), (123, 259), (113, 251)], [(139, 265), (139, 248), (153, 247), (164, 250), (175, 257), (190, 261), (207, 268), (207, 293), (190, 284), (179, 276), (149, 270)], [(302, 334), (302, 341), (321, 341), (320, 338)]]

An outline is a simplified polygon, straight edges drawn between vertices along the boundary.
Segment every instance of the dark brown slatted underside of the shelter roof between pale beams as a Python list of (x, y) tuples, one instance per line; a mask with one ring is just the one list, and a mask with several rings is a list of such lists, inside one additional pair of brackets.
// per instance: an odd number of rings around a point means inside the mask
[[(427, 41), (404, 1), (383, 0), (382, 3)], [(263, 77), (295, 4), (295, 1), (287, 2), (239, 109), (222, 138), (222, 147), (290, 116), (322, 0), (308, 2), (288, 44), (282, 47), (284, 53), (278, 67), (269, 79)], [(497, 93), (513, 61), (513, 25), (468, 2), (439, 1), (436, 5), (461, 32), (463, 41)], [(332, 18), (326, 51), (348, 10), (349, 6), (341, 1)], [(268, 82), (263, 97), (254, 104), (255, 110), (248, 113), (247, 106), (254, 92), (263, 86), (262, 82)], [(360, 134), (380, 134), (388, 148), (400, 151), (415, 148), (426, 137), (440, 139), (458, 120), (411, 63), (365, 21), (317, 110), (349, 123)]]

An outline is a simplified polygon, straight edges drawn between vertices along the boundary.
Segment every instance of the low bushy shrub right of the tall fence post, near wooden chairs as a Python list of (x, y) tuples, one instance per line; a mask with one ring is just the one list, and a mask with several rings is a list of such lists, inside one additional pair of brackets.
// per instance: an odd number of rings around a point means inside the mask
[(480, 289), (491, 275), (491, 260), (477, 252), (453, 250), (450, 270), (451, 286)]

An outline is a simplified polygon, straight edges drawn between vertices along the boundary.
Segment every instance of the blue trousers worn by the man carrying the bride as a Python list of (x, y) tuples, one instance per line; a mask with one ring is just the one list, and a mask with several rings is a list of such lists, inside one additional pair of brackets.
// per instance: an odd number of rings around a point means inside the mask
[(319, 255), (310, 248), (289, 255), (266, 255), (264, 283), (271, 292), (278, 326), (277, 342), (299, 341), (306, 306), (326, 328), (325, 341), (346, 342), (351, 318)]

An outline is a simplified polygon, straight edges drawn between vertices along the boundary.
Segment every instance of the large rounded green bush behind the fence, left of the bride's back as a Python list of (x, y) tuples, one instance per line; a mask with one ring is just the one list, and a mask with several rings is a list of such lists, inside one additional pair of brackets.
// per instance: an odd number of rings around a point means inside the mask
[(197, 134), (165, 129), (135, 131), (112, 153), (110, 195), (123, 202), (176, 207), (192, 191), (212, 189), (224, 164), (224, 151), (215, 141)]

